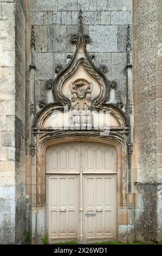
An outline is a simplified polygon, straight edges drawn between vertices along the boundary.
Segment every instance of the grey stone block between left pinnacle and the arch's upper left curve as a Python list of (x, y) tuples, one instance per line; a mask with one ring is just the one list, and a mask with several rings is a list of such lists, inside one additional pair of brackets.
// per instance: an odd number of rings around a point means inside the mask
[(49, 80), (53, 78), (53, 53), (35, 53), (35, 79)]

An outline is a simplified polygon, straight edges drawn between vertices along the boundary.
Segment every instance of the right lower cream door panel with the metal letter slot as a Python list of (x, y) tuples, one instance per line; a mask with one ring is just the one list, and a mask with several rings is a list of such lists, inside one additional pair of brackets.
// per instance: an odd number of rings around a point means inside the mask
[(83, 177), (83, 230), (85, 239), (114, 238), (116, 221), (115, 175)]

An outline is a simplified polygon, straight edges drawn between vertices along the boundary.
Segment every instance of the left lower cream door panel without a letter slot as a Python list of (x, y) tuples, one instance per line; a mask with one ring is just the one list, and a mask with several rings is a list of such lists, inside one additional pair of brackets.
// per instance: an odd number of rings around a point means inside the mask
[(78, 176), (49, 176), (49, 238), (76, 239), (78, 220)]

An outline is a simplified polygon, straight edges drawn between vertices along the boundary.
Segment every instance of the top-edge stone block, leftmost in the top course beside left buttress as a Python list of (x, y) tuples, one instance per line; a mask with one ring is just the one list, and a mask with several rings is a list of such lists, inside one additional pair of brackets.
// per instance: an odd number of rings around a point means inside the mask
[(57, 9), (57, 0), (29, 0), (31, 11), (51, 11)]

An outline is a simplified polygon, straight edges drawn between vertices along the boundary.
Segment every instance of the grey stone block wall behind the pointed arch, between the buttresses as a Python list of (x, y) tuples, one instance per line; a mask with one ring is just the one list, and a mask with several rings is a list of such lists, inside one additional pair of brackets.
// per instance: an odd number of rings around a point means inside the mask
[[(106, 76), (116, 80), (114, 102), (126, 103), (126, 43), (127, 25), (132, 31), (132, 1), (30, 0), (26, 1), (27, 69), (31, 63), (31, 25), (35, 31), (35, 94), (37, 111), (40, 100), (53, 101), (46, 90), (46, 81), (56, 77), (56, 65), (65, 68), (67, 56), (73, 57), (75, 45), (71, 37), (77, 34), (79, 10), (83, 11), (85, 34), (91, 38), (88, 51), (95, 56), (94, 64), (106, 65)], [(28, 78), (27, 78), (28, 80)], [(121, 92), (121, 93), (120, 93)]]

